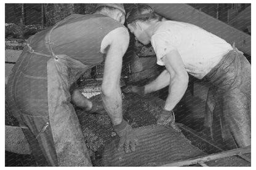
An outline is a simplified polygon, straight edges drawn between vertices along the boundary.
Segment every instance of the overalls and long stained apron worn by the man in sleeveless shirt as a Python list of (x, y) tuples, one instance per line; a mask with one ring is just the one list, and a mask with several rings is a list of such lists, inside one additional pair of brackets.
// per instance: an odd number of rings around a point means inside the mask
[[(91, 66), (66, 55), (54, 54), (50, 33), (60, 23), (45, 36), (46, 44), (42, 45), (41, 51), (46, 53), (36, 52), (31, 48), (33, 45), (27, 44), (16, 70), (10, 75), (7, 97), (39, 166), (92, 166), (69, 91), (71, 84)], [(23, 70), (26, 71), (25, 59), (29, 57), (39, 57), (47, 62), (44, 68), (47, 69), (46, 77), (23, 74)], [(26, 98), (29, 91), (38, 94), (30, 93)], [(40, 96), (45, 97), (38, 99)]]

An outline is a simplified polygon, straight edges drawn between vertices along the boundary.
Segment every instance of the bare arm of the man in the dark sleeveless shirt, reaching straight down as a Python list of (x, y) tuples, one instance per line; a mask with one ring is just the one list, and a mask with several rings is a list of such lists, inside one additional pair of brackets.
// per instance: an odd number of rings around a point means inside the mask
[(110, 41), (106, 47), (108, 50), (102, 82), (102, 100), (111, 122), (113, 125), (118, 125), (122, 122), (122, 96), (119, 83), (122, 56), (129, 45), (129, 33), (127, 29), (121, 28), (108, 36)]

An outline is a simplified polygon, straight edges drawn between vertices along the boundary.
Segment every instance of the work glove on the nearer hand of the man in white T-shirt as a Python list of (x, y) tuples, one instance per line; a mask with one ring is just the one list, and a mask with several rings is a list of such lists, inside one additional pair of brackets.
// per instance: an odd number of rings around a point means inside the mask
[(158, 120), (156, 121), (156, 124), (172, 127), (177, 132), (181, 131), (175, 123), (174, 112), (172, 110), (169, 111), (162, 108), (162, 112), (158, 116)]

